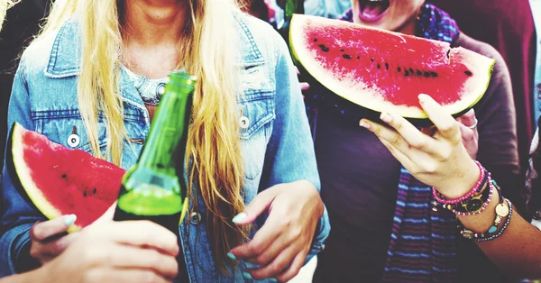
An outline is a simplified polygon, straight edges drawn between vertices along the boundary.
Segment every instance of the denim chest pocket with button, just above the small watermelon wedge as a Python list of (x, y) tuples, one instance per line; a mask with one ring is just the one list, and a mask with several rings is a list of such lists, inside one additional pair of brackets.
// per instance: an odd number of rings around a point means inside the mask
[[(66, 114), (55, 117), (43, 117), (35, 120), (36, 131), (46, 135), (51, 142), (60, 143), (71, 150), (81, 150), (92, 153), (88, 141), (87, 130), (79, 115)], [(97, 129), (99, 147), (105, 151), (105, 123), (100, 121)]]

